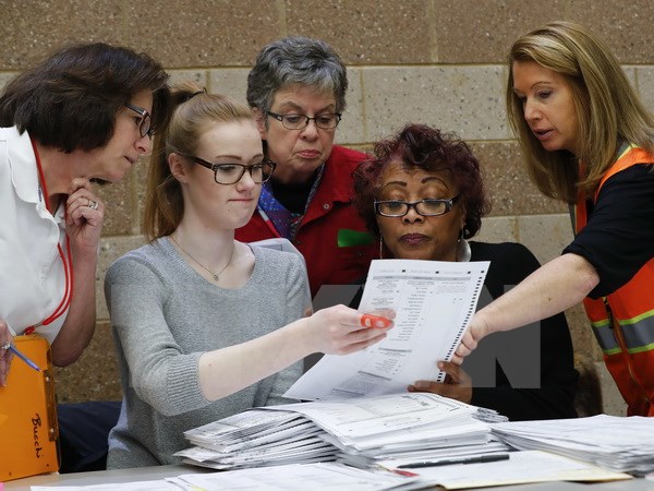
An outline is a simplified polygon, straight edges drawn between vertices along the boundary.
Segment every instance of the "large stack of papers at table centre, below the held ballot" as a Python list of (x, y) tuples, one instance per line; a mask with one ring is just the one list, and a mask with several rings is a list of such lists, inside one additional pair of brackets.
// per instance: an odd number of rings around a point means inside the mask
[[(506, 451), (475, 406), (407, 393), (258, 408), (185, 432), (185, 462), (217, 469), (339, 460), (411, 463)], [(494, 415), (496, 416), (496, 415)]]

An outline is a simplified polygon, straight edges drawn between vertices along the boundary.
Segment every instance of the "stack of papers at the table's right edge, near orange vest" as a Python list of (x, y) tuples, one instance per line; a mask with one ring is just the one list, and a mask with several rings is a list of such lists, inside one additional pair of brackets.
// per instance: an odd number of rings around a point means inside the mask
[(520, 450), (545, 450), (635, 476), (654, 471), (654, 418), (506, 422), (494, 424), (493, 432)]

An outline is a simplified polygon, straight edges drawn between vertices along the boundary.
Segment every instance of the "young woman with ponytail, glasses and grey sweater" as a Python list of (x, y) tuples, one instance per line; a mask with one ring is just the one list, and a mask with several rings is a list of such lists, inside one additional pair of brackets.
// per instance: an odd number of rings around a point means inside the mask
[(385, 337), (344, 306), (303, 316), (300, 254), (234, 240), (275, 170), (246, 106), (184, 84), (155, 137), (144, 227), (150, 242), (107, 272), (124, 404), (109, 468), (178, 462), (183, 432), (288, 402), (302, 360)]

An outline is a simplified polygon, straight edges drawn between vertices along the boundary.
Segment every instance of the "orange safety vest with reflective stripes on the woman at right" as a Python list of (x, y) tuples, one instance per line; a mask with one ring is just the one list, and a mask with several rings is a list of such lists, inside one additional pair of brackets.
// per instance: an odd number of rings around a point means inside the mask
[[(654, 155), (628, 147), (600, 181), (635, 164), (654, 163)], [(585, 227), (585, 195), (577, 202), (577, 232)], [(653, 244), (654, 247), (654, 244)], [(654, 259), (621, 288), (583, 304), (593, 333), (604, 351), (606, 368), (627, 402), (629, 416), (654, 416)]]

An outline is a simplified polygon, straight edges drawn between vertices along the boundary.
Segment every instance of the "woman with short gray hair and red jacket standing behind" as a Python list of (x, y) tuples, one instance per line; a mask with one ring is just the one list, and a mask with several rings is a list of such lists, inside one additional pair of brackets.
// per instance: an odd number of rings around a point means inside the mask
[(289, 239), (304, 255), (312, 295), (366, 274), (375, 247), (351, 205), (351, 173), (366, 155), (334, 145), (348, 79), (324, 41), (292, 36), (266, 46), (247, 77), (266, 156), (277, 163), (257, 212), (237, 239)]

